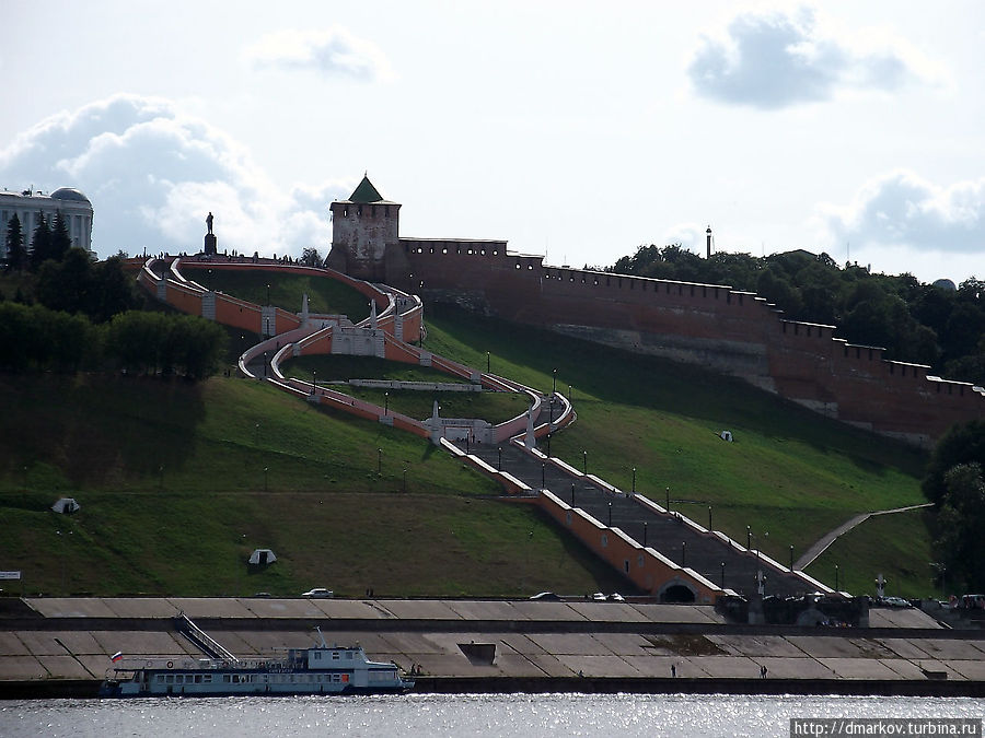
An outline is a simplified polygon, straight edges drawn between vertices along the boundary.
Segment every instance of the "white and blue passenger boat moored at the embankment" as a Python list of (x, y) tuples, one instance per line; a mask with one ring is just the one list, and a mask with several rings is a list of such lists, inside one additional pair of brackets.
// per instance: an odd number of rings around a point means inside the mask
[(371, 661), (361, 646), (328, 646), (322, 637), (310, 648), (289, 648), (275, 659), (121, 658), (114, 657), (115, 678), (100, 696), (229, 696), (239, 694), (375, 694), (406, 692), (396, 664)]

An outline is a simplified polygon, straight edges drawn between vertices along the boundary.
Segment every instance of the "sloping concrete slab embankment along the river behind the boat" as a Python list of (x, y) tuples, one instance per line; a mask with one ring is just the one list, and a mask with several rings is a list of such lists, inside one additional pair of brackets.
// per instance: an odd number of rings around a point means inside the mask
[[(0, 608), (0, 698), (94, 695), (109, 656), (198, 657), (186, 613), (231, 652), (358, 642), (414, 668), (424, 692), (985, 696), (985, 631), (916, 610), (867, 629), (737, 625), (647, 602), (43, 598)], [(765, 670), (765, 678), (764, 678)]]

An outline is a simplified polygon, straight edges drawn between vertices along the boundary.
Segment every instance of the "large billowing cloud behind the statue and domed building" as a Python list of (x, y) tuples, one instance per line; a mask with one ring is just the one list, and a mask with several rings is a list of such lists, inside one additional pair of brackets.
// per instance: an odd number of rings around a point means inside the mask
[(93, 245), (197, 251), (205, 216), (216, 216), (220, 249), (326, 254), (328, 203), (338, 183), (277, 187), (223, 131), (165, 99), (115, 95), (51, 116), (0, 150), (0, 186), (46, 191), (77, 187), (92, 201)]

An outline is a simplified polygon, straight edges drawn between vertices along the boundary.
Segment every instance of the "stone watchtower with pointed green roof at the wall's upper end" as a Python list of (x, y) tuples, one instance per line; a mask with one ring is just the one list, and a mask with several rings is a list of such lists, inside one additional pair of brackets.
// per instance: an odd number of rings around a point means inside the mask
[(385, 281), (386, 251), (398, 251), (399, 203), (384, 200), (363, 176), (349, 199), (335, 200), (331, 209), (332, 250), (326, 266), (369, 282)]

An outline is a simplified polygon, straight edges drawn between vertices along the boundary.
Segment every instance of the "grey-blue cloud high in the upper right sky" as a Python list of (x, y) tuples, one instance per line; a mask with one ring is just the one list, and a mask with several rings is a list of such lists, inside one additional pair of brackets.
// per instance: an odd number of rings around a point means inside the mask
[(942, 77), (904, 39), (848, 31), (809, 8), (737, 15), (723, 36), (703, 38), (687, 73), (705, 97), (761, 109), (826, 101), (843, 90), (893, 92)]

